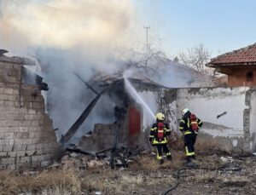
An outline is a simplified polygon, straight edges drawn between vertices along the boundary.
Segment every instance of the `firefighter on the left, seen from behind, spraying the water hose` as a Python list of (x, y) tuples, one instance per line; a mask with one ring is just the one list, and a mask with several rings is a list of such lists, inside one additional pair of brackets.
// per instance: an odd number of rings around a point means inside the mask
[(149, 135), (149, 141), (152, 146), (157, 149), (156, 159), (160, 161), (160, 164), (164, 163), (163, 152), (166, 154), (168, 160), (172, 160), (172, 154), (167, 146), (167, 136), (171, 135), (171, 129), (169, 124), (165, 122), (165, 115), (163, 113), (157, 113), (156, 123), (152, 125)]

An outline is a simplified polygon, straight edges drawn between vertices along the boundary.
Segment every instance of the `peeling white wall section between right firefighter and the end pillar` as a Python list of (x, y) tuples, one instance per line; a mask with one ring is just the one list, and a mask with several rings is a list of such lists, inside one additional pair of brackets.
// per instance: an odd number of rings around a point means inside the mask
[[(201, 136), (230, 151), (244, 148), (245, 88), (178, 89), (177, 108), (189, 107), (204, 122)], [(179, 114), (179, 113), (178, 113)]]

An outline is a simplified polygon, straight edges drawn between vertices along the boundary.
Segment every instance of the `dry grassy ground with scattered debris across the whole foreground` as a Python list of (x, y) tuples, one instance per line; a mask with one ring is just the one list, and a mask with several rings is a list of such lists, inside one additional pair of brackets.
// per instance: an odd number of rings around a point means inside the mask
[[(210, 153), (210, 152), (208, 152)], [(54, 166), (32, 172), (0, 172), (0, 194), (255, 194), (256, 157), (199, 154), (192, 167), (183, 153), (158, 164), (154, 156), (137, 156), (129, 168)], [(181, 170), (183, 169), (183, 170)], [(181, 170), (181, 171), (179, 171)], [(177, 174), (179, 171), (179, 174)], [(179, 179), (177, 179), (177, 176)]]

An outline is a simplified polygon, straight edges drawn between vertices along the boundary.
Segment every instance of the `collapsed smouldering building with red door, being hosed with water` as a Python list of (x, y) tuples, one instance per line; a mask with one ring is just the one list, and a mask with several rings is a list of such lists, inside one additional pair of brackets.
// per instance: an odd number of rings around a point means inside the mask
[[(96, 98), (90, 102), (81, 117), (62, 137), (62, 142), (67, 142), (71, 139), (81, 123), (86, 123), (84, 116), (90, 113), (93, 109), (92, 106), (96, 104), (96, 100), (101, 96), (102, 99), (108, 96), (114, 102), (114, 105), (109, 104), (111, 114), (114, 116), (113, 123), (95, 123), (94, 129), (79, 141), (79, 147), (86, 151), (103, 150), (112, 147), (116, 139), (119, 140), (119, 146), (135, 148), (136, 146), (144, 145), (145, 137), (143, 131), (148, 129), (148, 124), (154, 122), (156, 108), (152, 112), (137, 94), (137, 91), (139, 93), (157, 93), (160, 89), (166, 87), (155, 83), (148, 77), (136, 77), (133, 75), (133, 77), (124, 78), (123, 75), (123, 72), (117, 72), (111, 76), (97, 74), (88, 83), (78, 76), (95, 93)], [(102, 110), (102, 112), (104, 111)]]

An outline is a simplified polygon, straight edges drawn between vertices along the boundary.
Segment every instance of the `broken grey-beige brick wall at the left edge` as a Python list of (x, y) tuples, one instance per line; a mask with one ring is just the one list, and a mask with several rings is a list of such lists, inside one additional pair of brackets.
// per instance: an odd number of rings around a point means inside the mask
[(20, 84), (20, 71), (0, 61), (0, 169), (45, 166), (61, 152), (41, 91)]

